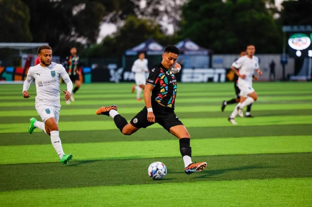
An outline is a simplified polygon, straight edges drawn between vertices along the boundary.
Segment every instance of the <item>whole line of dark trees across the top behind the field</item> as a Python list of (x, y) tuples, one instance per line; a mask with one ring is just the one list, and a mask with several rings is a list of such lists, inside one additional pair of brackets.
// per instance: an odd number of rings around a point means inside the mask
[[(214, 53), (281, 53), (282, 25), (311, 25), (312, 1), (274, 0), (0, 0), (1, 42), (48, 42), (56, 55), (76, 46), (80, 56), (123, 54), (152, 37), (160, 44), (190, 38)], [(161, 25), (173, 25), (168, 35)], [(103, 22), (117, 31), (96, 43)]]

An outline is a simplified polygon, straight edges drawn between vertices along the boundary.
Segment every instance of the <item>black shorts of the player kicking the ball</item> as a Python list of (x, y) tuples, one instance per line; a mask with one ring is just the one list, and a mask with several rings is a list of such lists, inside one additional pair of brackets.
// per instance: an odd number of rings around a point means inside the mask
[[(152, 104), (153, 113), (155, 115), (155, 123), (158, 123), (163, 128), (165, 128), (168, 132), (170, 132), (170, 128), (183, 125), (177, 115), (171, 109), (166, 109), (164, 106), (156, 103)], [(135, 115), (130, 123), (136, 128), (146, 128), (148, 126), (153, 125), (153, 122), (149, 122), (147, 120), (147, 109), (144, 107), (137, 115)]]

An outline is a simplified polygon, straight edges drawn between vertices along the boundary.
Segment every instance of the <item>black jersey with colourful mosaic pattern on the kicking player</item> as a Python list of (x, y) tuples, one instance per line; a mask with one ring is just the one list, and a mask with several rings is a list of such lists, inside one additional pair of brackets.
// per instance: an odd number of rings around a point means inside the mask
[(177, 95), (177, 80), (171, 71), (158, 63), (149, 73), (146, 84), (153, 85), (152, 101), (155, 100), (164, 106), (174, 109)]

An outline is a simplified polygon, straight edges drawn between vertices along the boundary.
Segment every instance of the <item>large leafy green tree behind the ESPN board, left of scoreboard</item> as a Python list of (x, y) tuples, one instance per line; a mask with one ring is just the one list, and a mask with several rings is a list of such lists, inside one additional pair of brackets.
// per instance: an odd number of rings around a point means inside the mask
[(215, 53), (239, 53), (247, 44), (257, 53), (281, 51), (281, 28), (266, 0), (191, 0), (182, 12), (180, 34)]

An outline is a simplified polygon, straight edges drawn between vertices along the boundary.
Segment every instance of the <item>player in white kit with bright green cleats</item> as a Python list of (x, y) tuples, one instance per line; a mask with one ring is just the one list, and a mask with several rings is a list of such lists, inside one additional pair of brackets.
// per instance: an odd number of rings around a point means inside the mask
[(28, 131), (32, 134), (38, 127), (47, 135), (51, 136), (51, 143), (60, 157), (61, 163), (66, 165), (73, 155), (63, 152), (57, 125), (61, 108), (60, 77), (62, 77), (67, 84), (67, 91), (63, 90), (66, 101), (71, 97), (73, 83), (61, 64), (51, 62), (52, 48), (50, 46), (40, 46), (38, 48), (38, 57), (41, 59), (41, 63), (29, 68), (27, 78), (23, 85), (23, 96), (26, 99), (30, 97), (27, 90), (32, 80), (35, 79), (37, 91), (35, 107), (43, 122), (38, 122), (35, 118), (31, 118)]

